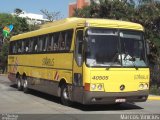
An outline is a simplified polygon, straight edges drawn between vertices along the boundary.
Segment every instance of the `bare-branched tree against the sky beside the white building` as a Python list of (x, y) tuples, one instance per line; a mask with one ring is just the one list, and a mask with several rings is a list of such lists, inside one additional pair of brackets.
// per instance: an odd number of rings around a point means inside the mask
[(49, 21), (54, 21), (54, 20), (58, 20), (58, 19), (61, 19), (61, 13), (60, 12), (49, 12), (48, 10), (46, 9), (42, 9), (40, 10), (41, 13), (43, 13), (46, 18), (49, 20)]

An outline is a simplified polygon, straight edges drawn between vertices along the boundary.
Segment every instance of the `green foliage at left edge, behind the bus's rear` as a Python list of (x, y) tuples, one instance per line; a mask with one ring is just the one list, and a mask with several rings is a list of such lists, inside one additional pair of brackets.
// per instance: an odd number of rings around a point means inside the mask
[(0, 64), (2, 67), (6, 67), (6, 64), (7, 64), (9, 38), (12, 35), (17, 35), (20, 33), (28, 32), (28, 31), (39, 28), (39, 26), (37, 25), (29, 25), (25, 18), (20, 18), (18, 16), (12, 16), (6, 13), (0, 13), (0, 40), (4, 39), (2, 37), (2, 29), (4, 28), (4, 26), (10, 25), (10, 24), (13, 24), (14, 26), (13, 31), (11, 32), (10, 36), (8, 36), (8, 38), (5, 38), (4, 44), (0, 46), (0, 48), (2, 47), (0, 51), (0, 61), (1, 61)]

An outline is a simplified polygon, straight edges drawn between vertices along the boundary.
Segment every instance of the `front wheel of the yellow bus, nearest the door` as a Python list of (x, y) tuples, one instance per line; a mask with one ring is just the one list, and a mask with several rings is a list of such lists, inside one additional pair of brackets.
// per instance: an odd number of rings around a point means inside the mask
[(66, 106), (71, 106), (72, 102), (69, 100), (67, 85), (63, 84), (61, 86), (61, 103)]

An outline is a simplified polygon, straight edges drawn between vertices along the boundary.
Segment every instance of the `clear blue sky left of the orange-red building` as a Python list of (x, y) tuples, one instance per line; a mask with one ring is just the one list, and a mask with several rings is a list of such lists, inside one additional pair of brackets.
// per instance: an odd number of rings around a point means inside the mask
[(61, 12), (63, 18), (68, 17), (68, 5), (76, 0), (1, 0), (0, 13), (13, 13), (20, 8), (28, 13), (42, 14), (41, 9), (49, 12)]

